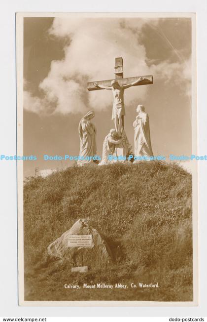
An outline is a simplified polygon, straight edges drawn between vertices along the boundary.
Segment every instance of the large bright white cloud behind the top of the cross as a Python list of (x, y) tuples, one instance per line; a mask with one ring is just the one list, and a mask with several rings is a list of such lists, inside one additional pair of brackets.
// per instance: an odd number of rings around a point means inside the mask
[[(150, 75), (170, 80), (188, 78), (183, 64), (162, 62), (148, 66), (145, 47), (139, 42), (143, 19), (55, 18), (50, 34), (69, 38), (65, 57), (52, 61), (47, 77), (39, 84), (43, 98), (25, 91), (24, 107), (36, 113), (84, 113), (102, 110), (112, 104), (109, 91), (87, 90), (87, 81), (114, 78), (114, 58), (123, 57), (125, 77)], [(179, 79), (178, 79), (179, 81)], [(148, 86), (131, 88), (125, 98), (130, 104), (144, 99)]]

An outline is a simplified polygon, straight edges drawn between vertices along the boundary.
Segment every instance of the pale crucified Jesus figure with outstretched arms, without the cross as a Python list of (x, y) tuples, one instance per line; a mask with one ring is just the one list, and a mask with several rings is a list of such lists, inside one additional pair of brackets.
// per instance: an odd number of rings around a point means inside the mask
[(124, 90), (131, 86), (137, 85), (139, 81), (144, 79), (145, 77), (139, 77), (138, 80), (127, 85), (120, 85), (117, 80), (112, 80), (110, 86), (98, 85), (98, 83), (96, 82), (94, 83), (96, 87), (112, 90), (112, 94), (113, 94), (112, 120), (114, 120), (116, 131), (120, 134), (123, 131), (123, 123), (124, 123), (124, 116), (125, 116)]

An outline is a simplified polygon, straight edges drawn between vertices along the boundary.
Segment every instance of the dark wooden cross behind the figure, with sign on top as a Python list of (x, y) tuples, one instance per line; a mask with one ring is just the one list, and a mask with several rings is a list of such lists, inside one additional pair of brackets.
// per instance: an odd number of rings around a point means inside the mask
[[(127, 85), (130, 84), (136, 80), (139, 79), (140, 76), (138, 77), (128, 77), (124, 78), (124, 73), (123, 73), (123, 58), (122, 57), (117, 57), (115, 58), (115, 79), (118, 80), (120, 85)], [(153, 76), (152, 75), (147, 75), (144, 76), (144, 80), (141, 80), (138, 82), (138, 84), (135, 84), (133, 86), (138, 86), (138, 85), (148, 85), (148, 84), (153, 84)], [(114, 80), (114, 79), (112, 79)], [(97, 83), (98, 85), (103, 85), (103, 86), (110, 86), (112, 80), (99, 80), (99, 81), (89, 81), (87, 83), (87, 89), (88, 90), (100, 90), (102, 88), (96, 87), (94, 85), (94, 82)]]

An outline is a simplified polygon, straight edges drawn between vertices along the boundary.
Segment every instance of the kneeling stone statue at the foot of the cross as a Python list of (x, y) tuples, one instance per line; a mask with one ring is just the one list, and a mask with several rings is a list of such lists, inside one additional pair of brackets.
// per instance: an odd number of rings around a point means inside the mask
[(115, 160), (108, 160), (108, 156), (115, 156), (115, 148), (118, 146), (124, 137), (119, 137), (118, 132), (112, 128), (110, 132), (104, 138), (103, 152), (102, 152), (102, 161), (99, 165), (105, 165), (116, 162)]

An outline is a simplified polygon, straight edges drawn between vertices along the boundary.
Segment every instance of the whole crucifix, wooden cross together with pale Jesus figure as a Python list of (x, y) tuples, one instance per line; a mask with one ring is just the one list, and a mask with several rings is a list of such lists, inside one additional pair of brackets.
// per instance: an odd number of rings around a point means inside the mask
[(141, 76), (141, 77), (129, 77), (124, 78), (123, 73), (123, 58), (115, 58), (115, 80), (99, 80), (91, 81), (87, 83), (88, 90), (99, 90), (107, 89), (113, 93), (113, 109), (112, 109), (112, 120), (114, 120), (116, 131), (122, 133), (124, 129), (124, 90), (131, 86), (137, 85), (148, 85), (153, 84), (152, 75)]

